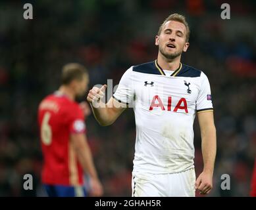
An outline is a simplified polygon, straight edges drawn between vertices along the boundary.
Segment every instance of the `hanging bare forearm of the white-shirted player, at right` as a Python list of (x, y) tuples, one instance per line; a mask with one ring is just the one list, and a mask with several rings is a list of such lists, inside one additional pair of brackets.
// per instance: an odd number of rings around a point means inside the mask
[(214, 125), (205, 127), (201, 131), (202, 154), (203, 154), (203, 171), (213, 174), (215, 165), (215, 156), (217, 150), (216, 129)]

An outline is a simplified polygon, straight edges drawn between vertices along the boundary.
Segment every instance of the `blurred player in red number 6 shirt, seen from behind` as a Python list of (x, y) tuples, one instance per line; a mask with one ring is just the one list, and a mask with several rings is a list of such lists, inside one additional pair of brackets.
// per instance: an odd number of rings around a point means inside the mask
[(66, 64), (62, 85), (39, 104), (38, 122), (43, 152), (42, 182), (48, 196), (86, 196), (84, 173), (92, 196), (103, 189), (86, 139), (84, 104), (75, 101), (88, 88), (89, 75), (80, 64)]

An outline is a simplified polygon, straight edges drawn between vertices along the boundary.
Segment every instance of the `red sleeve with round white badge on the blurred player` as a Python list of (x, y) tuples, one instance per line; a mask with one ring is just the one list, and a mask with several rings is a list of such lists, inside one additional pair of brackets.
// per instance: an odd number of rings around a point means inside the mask
[(78, 107), (71, 111), (69, 133), (86, 133), (86, 123), (82, 110)]

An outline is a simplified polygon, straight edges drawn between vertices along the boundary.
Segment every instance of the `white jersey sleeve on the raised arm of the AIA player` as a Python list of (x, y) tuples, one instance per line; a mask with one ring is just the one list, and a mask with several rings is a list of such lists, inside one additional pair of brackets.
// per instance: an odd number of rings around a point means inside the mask
[(134, 87), (132, 80), (132, 67), (129, 68), (120, 79), (118, 87), (113, 95), (113, 98), (122, 104), (128, 106), (134, 100)]

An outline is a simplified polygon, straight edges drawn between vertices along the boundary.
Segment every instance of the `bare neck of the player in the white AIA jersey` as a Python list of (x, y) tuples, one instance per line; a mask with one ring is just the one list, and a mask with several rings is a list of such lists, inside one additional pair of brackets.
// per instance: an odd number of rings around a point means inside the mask
[(157, 56), (157, 64), (159, 64), (163, 70), (175, 71), (180, 66), (180, 57), (181, 56), (174, 59), (167, 59), (159, 53)]

